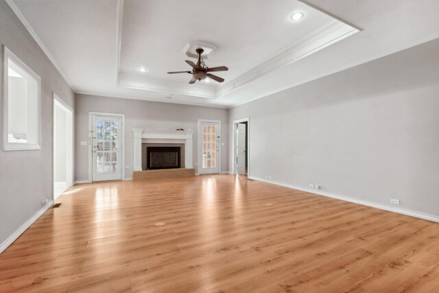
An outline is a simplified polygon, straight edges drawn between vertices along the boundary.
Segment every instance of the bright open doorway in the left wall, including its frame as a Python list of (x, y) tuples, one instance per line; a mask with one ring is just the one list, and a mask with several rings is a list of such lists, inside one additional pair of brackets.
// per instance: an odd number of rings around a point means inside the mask
[(73, 185), (73, 110), (54, 93), (54, 200)]

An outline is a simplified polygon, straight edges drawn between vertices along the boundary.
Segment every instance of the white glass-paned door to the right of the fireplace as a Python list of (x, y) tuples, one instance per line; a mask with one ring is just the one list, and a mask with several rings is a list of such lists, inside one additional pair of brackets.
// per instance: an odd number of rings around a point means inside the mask
[(200, 122), (200, 174), (219, 173), (219, 122)]

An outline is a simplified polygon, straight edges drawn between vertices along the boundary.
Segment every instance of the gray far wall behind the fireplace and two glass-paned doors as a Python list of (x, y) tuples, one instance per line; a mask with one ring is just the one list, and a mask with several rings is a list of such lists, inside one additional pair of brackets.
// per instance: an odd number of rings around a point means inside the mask
[[(197, 161), (198, 119), (222, 121), (221, 170), (228, 171), (228, 110), (202, 106), (189, 106), (136, 99), (119, 99), (95, 95), (77, 94), (75, 99), (75, 180), (88, 180), (88, 146), (80, 141), (88, 140), (88, 112), (125, 114), (125, 165), (126, 178), (131, 178), (134, 165), (134, 133), (132, 128), (176, 129), (191, 128), (193, 134), (193, 160)], [(194, 167), (196, 167), (194, 165)]]

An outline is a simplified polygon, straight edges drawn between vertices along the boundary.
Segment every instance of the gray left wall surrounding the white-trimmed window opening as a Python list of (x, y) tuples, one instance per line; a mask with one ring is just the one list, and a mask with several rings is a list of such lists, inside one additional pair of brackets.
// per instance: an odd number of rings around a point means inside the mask
[[(41, 202), (45, 198), (52, 198), (52, 92), (57, 93), (72, 108), (74, 93), (6, 1), (0, 1), (0, 44), (6, 45), (40, 75), (42, 82), (41, 150), (0, 150), (1, 244), (40, 211)], [(0, 80), (3, 84), (3, 72), (0, 72)], [(3, 105), (0, 103), (0, 129), (3, 131), (1, 107)]]

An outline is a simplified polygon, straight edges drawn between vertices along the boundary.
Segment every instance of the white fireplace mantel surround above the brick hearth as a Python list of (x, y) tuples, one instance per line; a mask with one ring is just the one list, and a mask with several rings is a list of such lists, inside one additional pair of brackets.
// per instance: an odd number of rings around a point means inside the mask
[(134, 132), (134, 171), (142, 171), (142, 142), (167, 141), (169, 143), (185, 143), (185, 168), (193, 168), (192, 135), (193, 131), (186, 130), (156, 130), (132, 128)]

